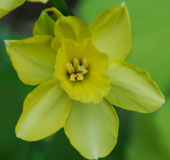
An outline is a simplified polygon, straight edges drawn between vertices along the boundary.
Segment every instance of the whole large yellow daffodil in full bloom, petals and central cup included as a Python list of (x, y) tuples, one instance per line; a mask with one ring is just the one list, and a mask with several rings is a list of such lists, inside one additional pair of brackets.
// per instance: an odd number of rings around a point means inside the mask
[(21, 81), (38, 85), (25, 99), (18, 138), (37, 141), (64, 128), (82, 156), (98, 159), (117, 142), (119, 120), (112, 105), (149, 113), (164, 104), (148, 73), (125, 62), (132, 38), (124, 4), (104, 11), (90, 26), (46, 9), (33, 35), (6, 41)]

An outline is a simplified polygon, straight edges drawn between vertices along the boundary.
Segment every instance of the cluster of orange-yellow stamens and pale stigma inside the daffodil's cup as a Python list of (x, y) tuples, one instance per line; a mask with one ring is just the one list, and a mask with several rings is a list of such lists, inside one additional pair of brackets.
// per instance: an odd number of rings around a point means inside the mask
[(73, 63), (67, 63), (66, 67), (70, 81), (82, 81), (84, 75), (88, 72), (88, 61), (83, 58), (80, 62), (77, 58), (74, 58)]

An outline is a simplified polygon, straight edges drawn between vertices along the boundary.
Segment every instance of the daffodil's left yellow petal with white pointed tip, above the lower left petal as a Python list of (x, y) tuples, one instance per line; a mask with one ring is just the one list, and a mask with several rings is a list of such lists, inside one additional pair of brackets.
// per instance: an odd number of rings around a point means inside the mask
[(8, 55), (23, 83), (36, 85), (53, 76), (56, 53), (51, 49), (51, 41), (51, 36), (5, 41)]

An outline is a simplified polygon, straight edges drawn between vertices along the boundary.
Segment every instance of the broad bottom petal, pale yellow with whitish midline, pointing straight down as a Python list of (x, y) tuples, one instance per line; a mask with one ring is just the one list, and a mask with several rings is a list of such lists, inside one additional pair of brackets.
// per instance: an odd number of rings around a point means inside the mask
[(71, 144), (87, 159), (107, 156), (117, 142), (119, 119), (105, 100), (99, 104), (73, 102), (65, 123)]

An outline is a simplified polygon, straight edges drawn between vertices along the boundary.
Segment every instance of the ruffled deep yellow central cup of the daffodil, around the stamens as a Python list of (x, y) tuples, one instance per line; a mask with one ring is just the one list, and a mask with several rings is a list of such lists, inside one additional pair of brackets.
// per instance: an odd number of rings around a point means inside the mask
[[(62, 44), (57, 53), (55, 77), (71, 99), (98, 103), (110, 89), (110, 80), (106, 75), (108, 56), (99, 52), (89, 40), (82, 45), (72, 40), (63, 40)], [(88, 73), (84, 75), (84, 80), (79, 82), (70, 81), (67, 72), (67, 64), (75, 58), (86, 58), (89, 63)]]

